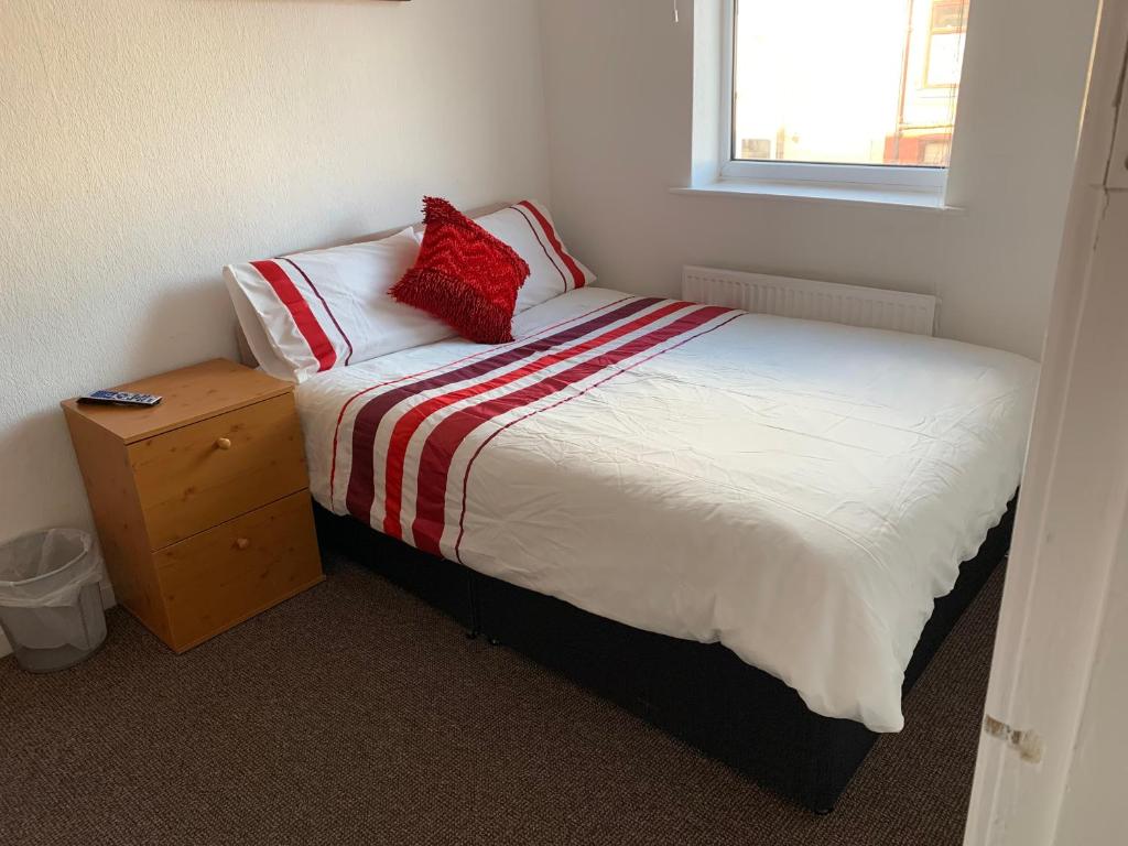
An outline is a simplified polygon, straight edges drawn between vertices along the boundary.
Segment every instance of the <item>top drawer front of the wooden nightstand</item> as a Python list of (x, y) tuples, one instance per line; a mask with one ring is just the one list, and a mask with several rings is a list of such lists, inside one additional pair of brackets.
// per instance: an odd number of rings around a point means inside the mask
[(138, 441), (129, 458), (151, 549), (309, 484), (291, 394)]

